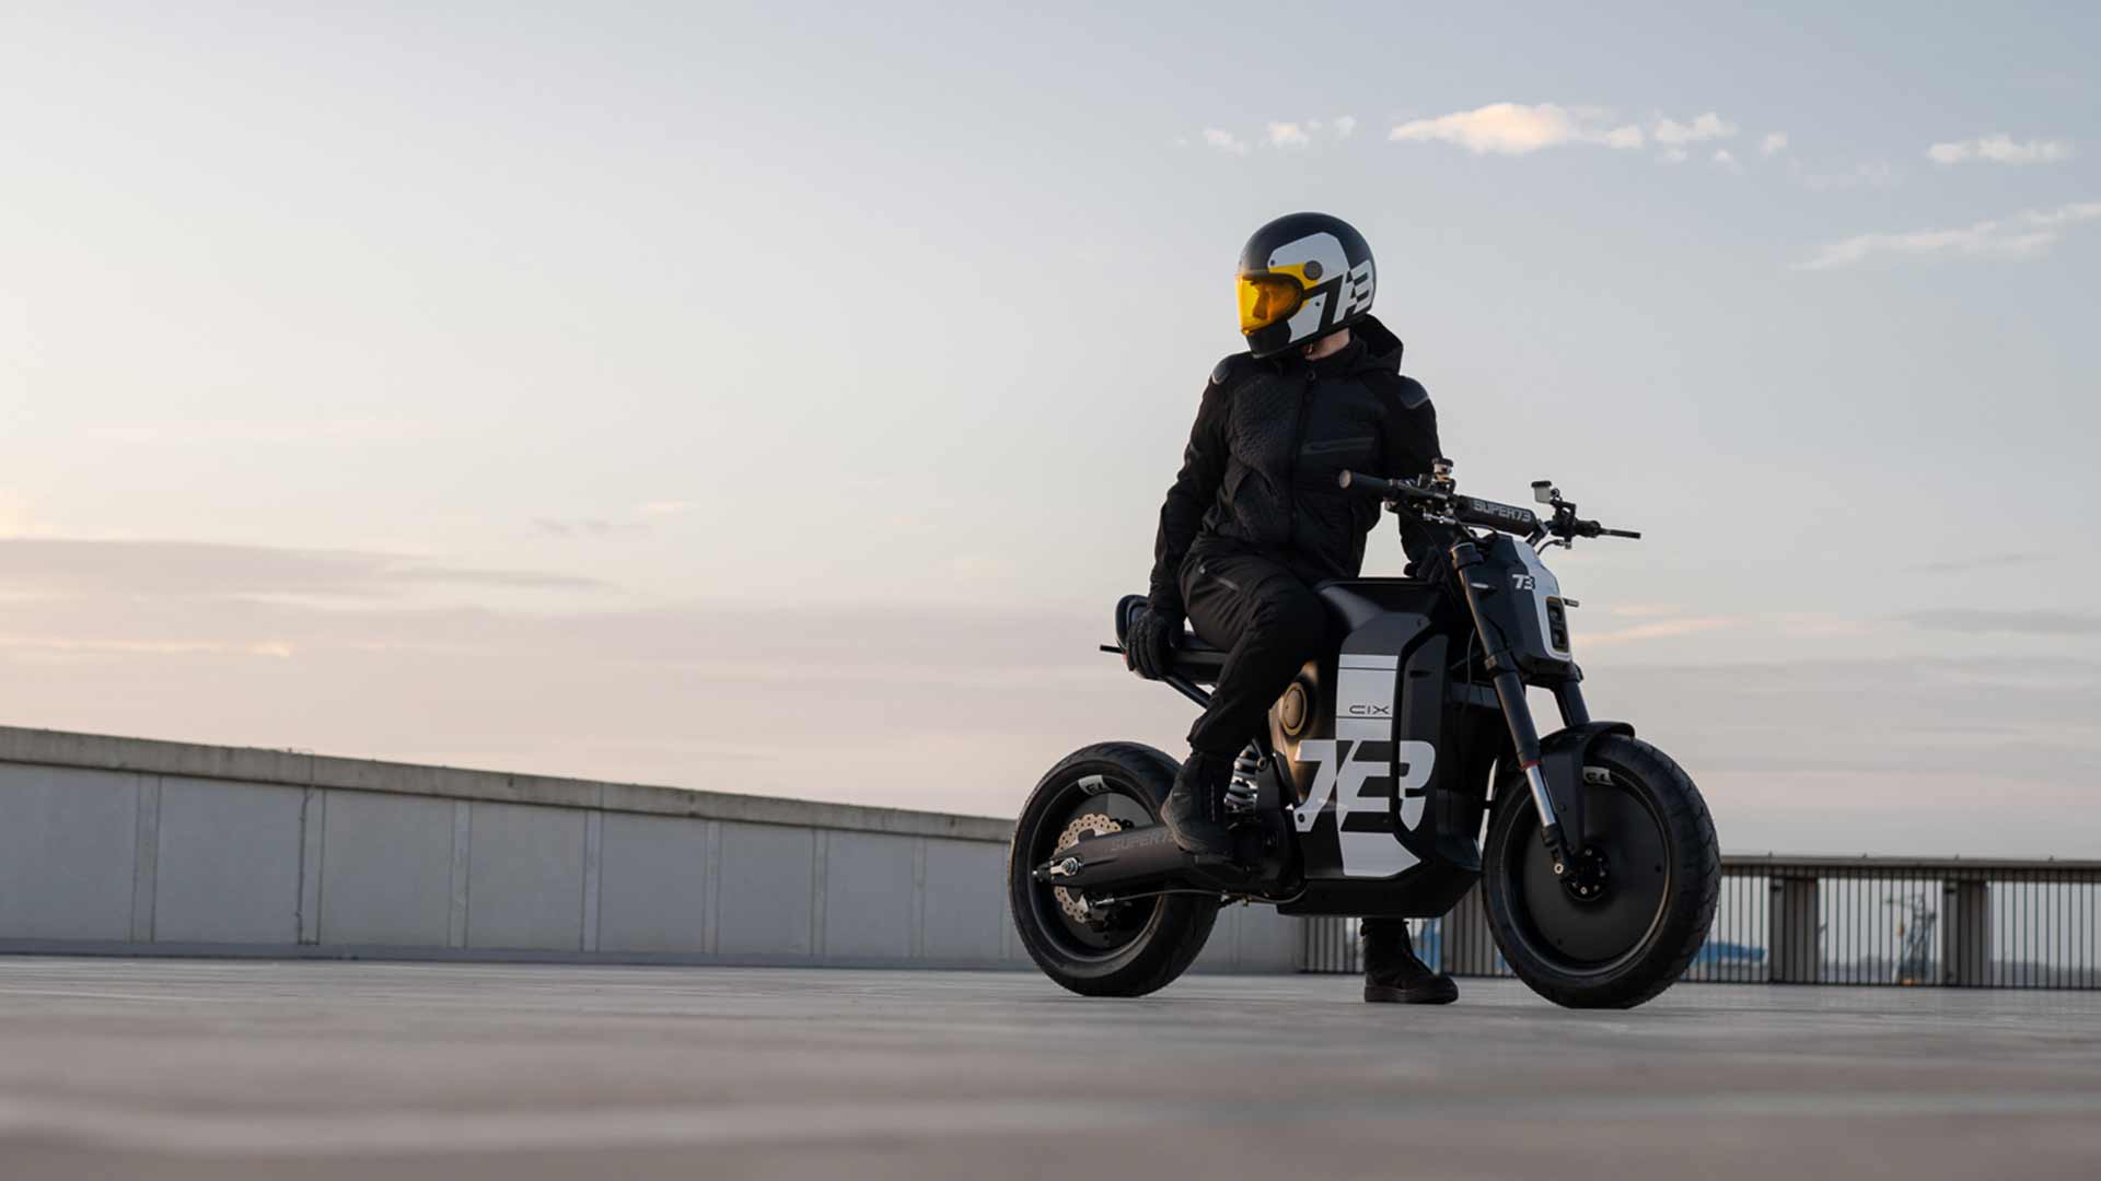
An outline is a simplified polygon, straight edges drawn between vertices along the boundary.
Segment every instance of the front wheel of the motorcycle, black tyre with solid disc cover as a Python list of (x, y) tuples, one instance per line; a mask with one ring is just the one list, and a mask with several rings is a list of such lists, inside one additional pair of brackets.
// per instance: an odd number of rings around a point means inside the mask
[(1620, 733), (1590, 744), (1582, 792), (1588, 847), (1555, 874), (1532, 792), (1504, 769), (1481, 857), (1488, 923), (1540, 996), (1632, 1009), (1685, 973), (1714, 923), (1714, 820), (1683, 767)]

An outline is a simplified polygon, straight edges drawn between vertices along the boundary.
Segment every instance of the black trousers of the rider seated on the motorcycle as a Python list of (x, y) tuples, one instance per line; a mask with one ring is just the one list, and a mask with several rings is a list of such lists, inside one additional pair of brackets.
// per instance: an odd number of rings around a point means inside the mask
[[(1183, 569), (1183, 605), (1195, 635), (1229, 654), (1210, 706), (1189, 727), (1189, 748), (1233, 759), (1328, 639), (1328, 607), (1296, 574), (1256, 555), (1193, 557)], [(1408, 920), (1366, 918), (1364, 935), (1406, 939)]]

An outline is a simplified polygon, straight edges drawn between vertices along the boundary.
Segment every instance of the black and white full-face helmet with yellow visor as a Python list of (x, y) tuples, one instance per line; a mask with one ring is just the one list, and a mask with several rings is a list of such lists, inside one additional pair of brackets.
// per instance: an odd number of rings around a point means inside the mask
[(1338, 216), (1294, 212), (1240, 248), (1240, 334), (1256, 357), (1309, 345), (1372, 311), (1372, 248)]

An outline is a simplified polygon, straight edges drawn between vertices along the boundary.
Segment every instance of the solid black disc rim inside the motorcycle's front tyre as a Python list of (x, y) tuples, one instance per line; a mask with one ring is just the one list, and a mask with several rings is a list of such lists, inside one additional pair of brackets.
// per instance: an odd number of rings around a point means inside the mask
[(1662, 927), (1670, 834), (1641, 784), (1603, 767), (1584, 771), (1584, 859), (1605, 874), (1595, 897), (1580, 897), (1567, 876), (1555, 874), (1532, 809), (1504, 834), (1502, 891), (1511, 929), (1534, 960), (1565, 975), (1607, 975), (1639, 956)]

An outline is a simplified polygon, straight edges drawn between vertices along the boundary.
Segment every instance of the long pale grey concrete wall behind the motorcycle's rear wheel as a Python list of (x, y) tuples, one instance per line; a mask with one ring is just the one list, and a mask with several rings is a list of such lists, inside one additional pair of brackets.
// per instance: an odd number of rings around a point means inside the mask
[[(1008, 830), (0, 727), (0, 952), (1029, 967)], [(1298, 952), (1235, 906), (1198, 967)]]

